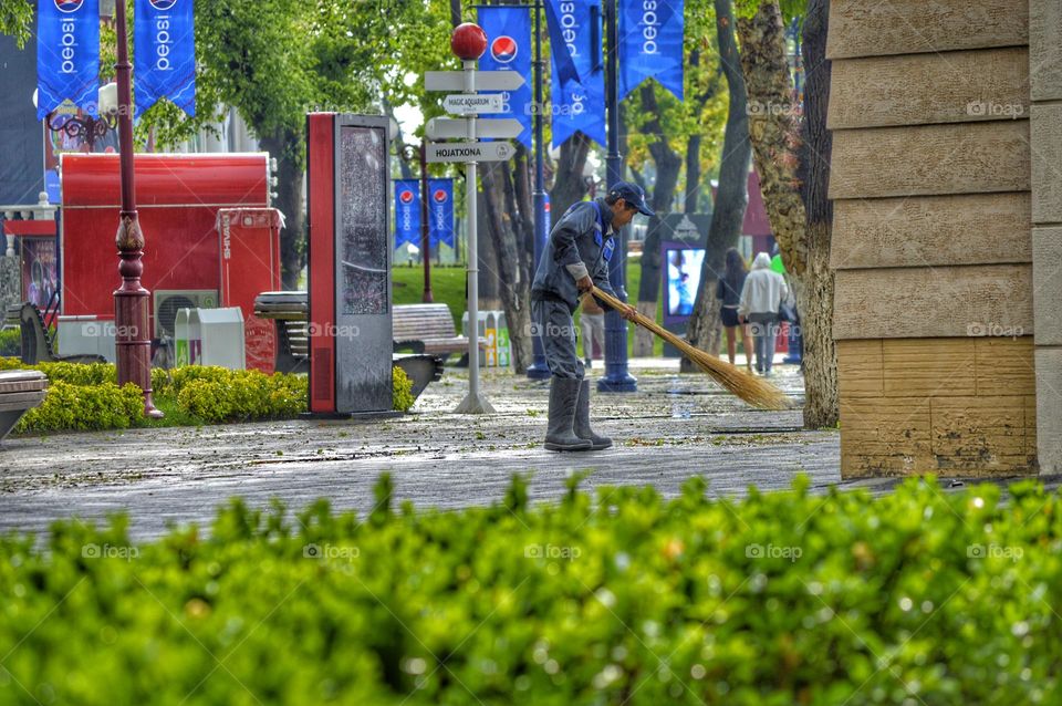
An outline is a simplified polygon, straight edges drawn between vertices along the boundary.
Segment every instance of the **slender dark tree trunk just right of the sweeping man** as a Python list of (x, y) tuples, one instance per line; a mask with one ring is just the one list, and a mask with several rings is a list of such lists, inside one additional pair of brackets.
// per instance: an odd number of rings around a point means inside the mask
[[(656, 216), (649, 219), (645, 232), (645, 243), (642, 248), (642, 280), (638, 283), (638, 313), (656, 321), (657, 301), (660, 297), (660, 236), (664, 232), (664, 215), (671, 210), (675, 199), (675, 189), (678, 187), (678, 176), (683, 169), (683, 158), (667, 144), (664, 126), (660, 124), (660, 110), (656, 102), (656, 86), (644, 83), (641, 89), (642, 108), (653, 118), (642, 126), (642, 133), (652, 135), (655, 139), (649, 143), (649, 154), (656, 165), (656, 183), (649, 198)], [(634, 332), (634, 356), (649, 357), (653, 355), (653, 344), (656, 336), (641, 326)]]

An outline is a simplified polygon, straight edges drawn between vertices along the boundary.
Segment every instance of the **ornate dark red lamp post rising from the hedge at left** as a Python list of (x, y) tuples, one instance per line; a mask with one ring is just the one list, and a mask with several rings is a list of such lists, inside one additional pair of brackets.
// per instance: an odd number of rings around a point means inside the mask
[(118, 61), (114, 64), (118, 84), (118, 144), (122, 165), (122, 211), (115, 245), (122, 287), (114, 292), (115, 353), (118, 385), (134, 383), (144, 391), (144, 414), (159, 418), (163, 413), (152, 401), (152, 338), (148, 325), (150, 293), (140, 285), (144, 272), (144, 233), (136, 212), (133, 168), (133, 90), (129, 72), (129, 41), (125, 23), (125, 0), (117, 0), (115, 23)]

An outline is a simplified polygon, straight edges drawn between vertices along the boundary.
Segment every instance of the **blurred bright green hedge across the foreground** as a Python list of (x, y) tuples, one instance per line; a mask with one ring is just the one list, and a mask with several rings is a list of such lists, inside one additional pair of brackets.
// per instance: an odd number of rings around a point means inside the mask
[(1060, 703), (1058, 496), (704, 490), (8, 538), (0, 703)]

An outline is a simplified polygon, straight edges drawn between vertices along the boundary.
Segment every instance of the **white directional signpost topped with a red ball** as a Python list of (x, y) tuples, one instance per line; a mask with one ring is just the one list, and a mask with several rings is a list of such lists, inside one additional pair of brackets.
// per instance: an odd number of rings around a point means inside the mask
[(464, 71), (428, 71), (424, 75), (427, 91), (460, 91), (442, 101), (446, 112), (464, 115), (461, 120), (433, 118), (425, 126), (429, 139), (460, 139), (455, 143), (429, 143), (428, 162), (460, 162), (465, 164), (465, 189), (468, 210), (468, 396), (457, 406), (459, 414), (493, 412), (479, 394), (479, 253), (476, 245), (477, 165), (480, 162), (506, 162), (516, 153), (507, 142), (479, 142), (480, 138), (507, 139), (520, 134), (519, 121), (499, 118), (480, 123), (477, 115), (503, 113), (501, 95), (480, 94), (477, 91), (513, 91), (523, 85), (523, 76), (516, 71), (477, 71), (479, 58), (487, 51), (487, 34), (471, 22), (466, 22), (450, 35), (450, 49), (461, 60)]

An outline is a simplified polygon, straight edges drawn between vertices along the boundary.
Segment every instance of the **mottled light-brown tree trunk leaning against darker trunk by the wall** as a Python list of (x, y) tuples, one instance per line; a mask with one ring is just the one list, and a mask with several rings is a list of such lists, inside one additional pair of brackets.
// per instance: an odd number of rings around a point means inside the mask
[(785, 28), (778, 0), (763, 0), (738, 20), (741, 68), (749, 94), (749, 136), (763, 205), (785, 269), (802, 277), (808, 264), (806, 216), (796, 178), (799, 108), (785, 58)]

